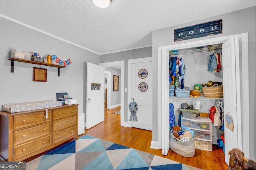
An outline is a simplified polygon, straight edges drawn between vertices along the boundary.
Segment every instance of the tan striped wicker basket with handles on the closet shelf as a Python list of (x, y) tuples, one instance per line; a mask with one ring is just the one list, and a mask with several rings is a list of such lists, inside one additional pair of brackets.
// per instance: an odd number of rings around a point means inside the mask
[(211, 87), (202, 87), (202, 91), (206, 98), (223, 98), (223, 86), (218, 86), (218, 84)]

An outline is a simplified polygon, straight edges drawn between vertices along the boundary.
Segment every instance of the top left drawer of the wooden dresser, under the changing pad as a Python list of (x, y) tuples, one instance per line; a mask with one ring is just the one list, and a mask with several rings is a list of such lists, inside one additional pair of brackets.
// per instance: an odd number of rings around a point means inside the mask
[(13, 129), (20, 129), (40, 123), (46, 123), (51, 121), (51, 110), (48, 110), (48, 119), (46, 119), (45, 110), (36, 111), (34, 113), (28, 113), (25, 115), (14, 115), (13, 116)]

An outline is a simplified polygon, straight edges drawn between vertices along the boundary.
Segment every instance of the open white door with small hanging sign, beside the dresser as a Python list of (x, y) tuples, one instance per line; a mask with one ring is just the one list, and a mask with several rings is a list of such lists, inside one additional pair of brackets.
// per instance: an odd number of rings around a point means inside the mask
[(87, 62), (86, 76), (86, 129), (90, 129), (104, 121), (104, 67)]

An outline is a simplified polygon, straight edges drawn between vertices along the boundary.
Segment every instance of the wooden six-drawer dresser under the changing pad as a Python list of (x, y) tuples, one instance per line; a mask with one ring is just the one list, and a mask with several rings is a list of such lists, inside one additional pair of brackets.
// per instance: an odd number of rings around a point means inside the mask
[(31, 156), (78, 140), (78, 104), (8, 113), (0, 111), (0, 156), (23, 161)]

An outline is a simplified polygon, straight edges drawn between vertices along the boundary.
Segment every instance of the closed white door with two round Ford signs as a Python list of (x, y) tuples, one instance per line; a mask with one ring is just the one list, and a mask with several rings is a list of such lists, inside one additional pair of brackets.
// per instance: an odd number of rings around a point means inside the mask
[[(130, 127), (152, 131), (152, 57), (128, 60), (128, 104), (138, 104), (138, 121), (128, 121)], [(129, 109), (129, 108), (128, 108)]]

